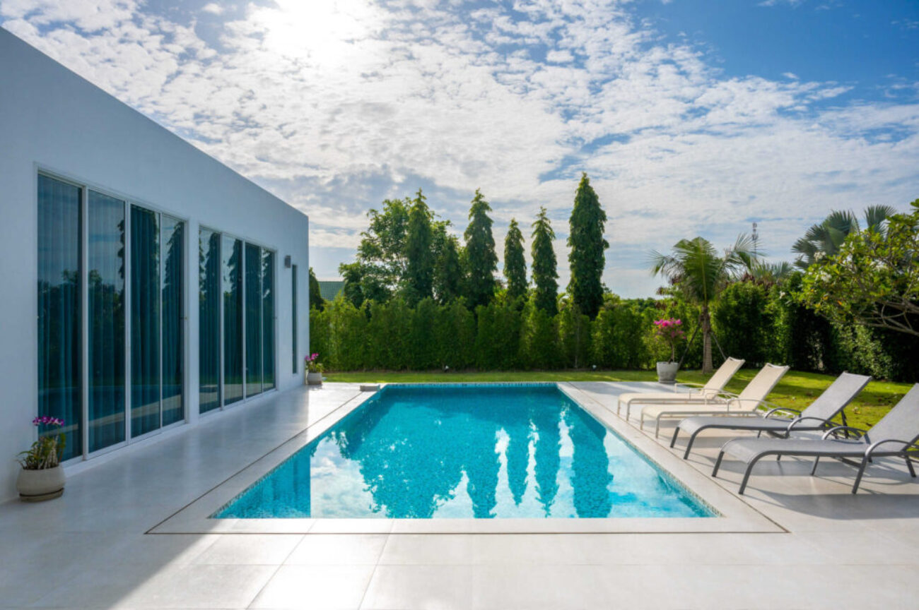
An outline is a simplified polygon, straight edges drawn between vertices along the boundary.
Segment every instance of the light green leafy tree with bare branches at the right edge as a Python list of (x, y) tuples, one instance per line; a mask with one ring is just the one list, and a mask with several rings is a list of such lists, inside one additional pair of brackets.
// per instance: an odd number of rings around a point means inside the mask
[(887, 230), (850, 233), (804, 275), (801, 299), (837, 323), (856, 322), (919, 337), (919, 199)]

